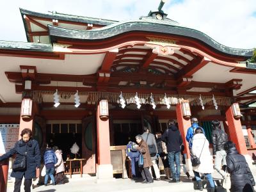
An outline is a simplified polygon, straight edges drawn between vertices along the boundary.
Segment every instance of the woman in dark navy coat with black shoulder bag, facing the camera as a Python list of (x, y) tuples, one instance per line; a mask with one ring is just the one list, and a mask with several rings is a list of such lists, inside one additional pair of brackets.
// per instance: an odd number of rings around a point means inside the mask
[[(40, 150), (38, 146), (38, 142), (33, 140), (32, 132), (30, 129), (23, 129), (20, 136), (21, 140), (15, 143), (15, 147), (13, 147), (9, 152), (0, 157), (0, 161), (4, 159), (8, 159), (16, 154), (15, 161), (22, 159), (22, 157), (26, 157), (26, 168), (19, 171), (12, 171), (11, 177), (15, 177), (15, 185), (13, 192), (20, 191), (20, 185), (22, 182), (22, 178), (25, 177), (24, 180), (24, 190), (25, 192), (30, 192), (32, 179), (39, 176), (39, 168), (40, 168)], [(15, 162), (13, 163), (15, 164)]]

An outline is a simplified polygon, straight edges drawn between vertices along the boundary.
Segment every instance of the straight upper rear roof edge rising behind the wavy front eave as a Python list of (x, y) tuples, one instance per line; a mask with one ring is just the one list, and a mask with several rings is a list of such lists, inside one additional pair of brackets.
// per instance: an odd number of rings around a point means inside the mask
[(82, 17), (82, 16), (68, 15), (63, 13), (56, 13), (56, 14), (37, 13), (37, 12), (31, 12), (29, 10), (24, 10), (22, 8), (20, 8), (20, 13), (22, 15), (22, 18), (23, 18), (23, 15), (32, 15), (35, 17), (43, 17), (47, 19), (68, 20), (72, 22), (99, 24), (102, 26), (108, 26), (109, 24), (118, 22), (116, 20), (99, 19), (99, 18), (93, 18), (93, 17)]

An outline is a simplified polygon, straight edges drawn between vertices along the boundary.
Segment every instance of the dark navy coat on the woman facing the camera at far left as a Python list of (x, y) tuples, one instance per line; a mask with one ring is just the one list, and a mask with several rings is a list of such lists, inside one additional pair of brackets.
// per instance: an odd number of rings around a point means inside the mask
[(24, 176), (25, 179), (33, 179), (36, 177), (36, 168), (40, 168), (40, 150), (39, 145), (36, 140), (29, 140), (28, 142), (24, 142), (22, 139), (15, 143), (15, 146), (6, 154), (0, 157), (0, 161), (4, 159), (8, 159), (16, 154), (16, 159), (22, 158), (25, 154), (27, 154), (26, 160), (26, 170), (24, 171), (12, 171), (11, 177), (15, 177), (17, 179), (22, 179)]

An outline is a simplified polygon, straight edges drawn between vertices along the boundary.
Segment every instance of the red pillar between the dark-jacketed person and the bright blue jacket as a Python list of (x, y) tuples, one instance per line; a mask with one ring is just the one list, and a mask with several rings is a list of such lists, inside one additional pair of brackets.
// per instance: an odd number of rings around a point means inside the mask
[(182, 116), (181, 104), (177, 104), (176, 106), (176, 115), (177, 115), (177, 121), (179, 125), (179, 131), (182, 136), (182, 140), (185, 147), (184, 154), (187, 154), (187, 158), (190, 159), (189, 144), (186, 141), (186, 134), (187, 134), (188, 128), (191, 127), (191, 121), (190, 121), (190, 118), (184, 118)]

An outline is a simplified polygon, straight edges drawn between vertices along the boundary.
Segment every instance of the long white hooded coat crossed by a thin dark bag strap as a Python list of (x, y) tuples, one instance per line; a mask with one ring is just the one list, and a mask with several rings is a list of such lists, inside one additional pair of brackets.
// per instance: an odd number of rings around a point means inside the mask
[(205, 138), (204, 134), (198, 133), (193, 136), (192, 142), (192, 154), (200, 159), (200, 164), (193, 166), (193, 170), (198, 173), (212, 173), (213, 163), (209, 150), (209, 141)]

